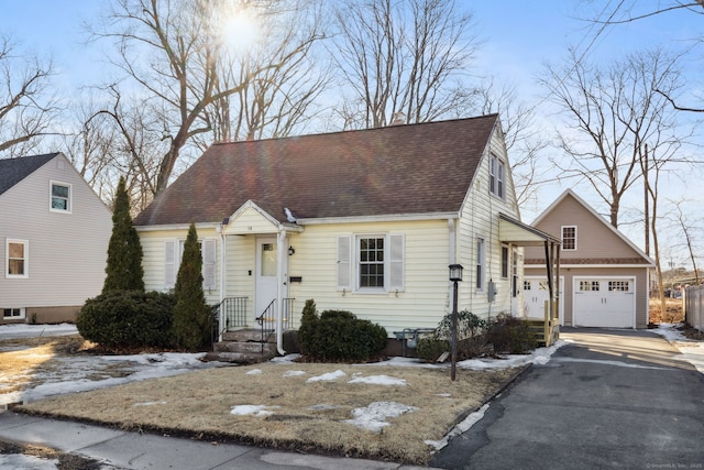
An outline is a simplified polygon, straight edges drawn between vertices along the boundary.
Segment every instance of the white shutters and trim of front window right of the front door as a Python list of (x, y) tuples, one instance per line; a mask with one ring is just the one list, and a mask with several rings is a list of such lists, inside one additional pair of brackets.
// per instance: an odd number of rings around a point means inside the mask
[[(384, 239), (384, 286), (360, 286), (360, 240)], [(355, 294), (388, 294), (404, 292), (406, 238), (403, 233), (354, 233), (338, 236), (337, 289)]]

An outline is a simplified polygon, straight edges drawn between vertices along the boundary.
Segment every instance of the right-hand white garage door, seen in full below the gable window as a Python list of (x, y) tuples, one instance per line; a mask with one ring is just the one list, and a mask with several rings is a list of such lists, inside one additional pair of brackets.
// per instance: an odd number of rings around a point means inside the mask
[(575, 277), (573, 324), (581, 327), (634, 328), (635, 285), (632, 277)]

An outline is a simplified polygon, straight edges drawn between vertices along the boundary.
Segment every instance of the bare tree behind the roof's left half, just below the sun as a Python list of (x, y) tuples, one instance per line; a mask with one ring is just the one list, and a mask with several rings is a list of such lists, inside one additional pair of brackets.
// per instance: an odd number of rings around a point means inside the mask
[[(318, 10), (298, 0), (250, 7), (267, 41), (223, 54), (216, 92), (240, 88), (206, 109), (216, 141), (286, 136), (316, 116), (316, 99), (329, 81), (308, 41), (319, 28)], [(280, 66), (267, 67), (273, 62)]]

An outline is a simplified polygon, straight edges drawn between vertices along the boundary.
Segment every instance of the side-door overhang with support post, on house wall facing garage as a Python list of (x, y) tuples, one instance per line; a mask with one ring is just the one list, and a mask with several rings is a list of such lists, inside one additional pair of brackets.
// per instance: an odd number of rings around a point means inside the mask
[(550, 320), (558, 318), (558, 306), (560, 305), (560, 244), (562, 244), (560, 239), (505, 214), (498, 215), (498, 239), (503, 243), (510, 243), (517, 247), (544, 247), (548, 293), (550, 296), (548, 315)]

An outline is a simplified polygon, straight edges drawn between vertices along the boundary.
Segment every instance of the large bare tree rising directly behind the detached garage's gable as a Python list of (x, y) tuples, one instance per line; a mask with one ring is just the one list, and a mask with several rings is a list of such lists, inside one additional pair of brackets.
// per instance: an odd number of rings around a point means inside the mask
[[(553, 162), (563, 176), (586, 179), (618, 227), (624, 194), (642, 175), (644, 145), (654, 152), (689, 136), (676, 134), (675, 113), (658, 92), (679, 88), (678, 58), (646, 51), (600, 67), (571, 52), (564, 68), (547, 70), (542, 84), (566, 123), (558, 143), (569, 159)], [(664, 152), (658, 153), (668, 161)]]

